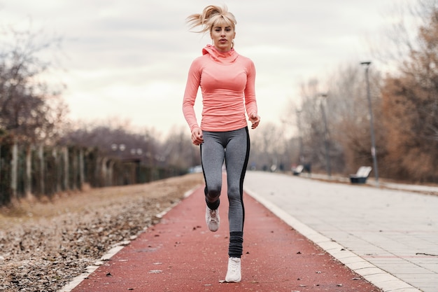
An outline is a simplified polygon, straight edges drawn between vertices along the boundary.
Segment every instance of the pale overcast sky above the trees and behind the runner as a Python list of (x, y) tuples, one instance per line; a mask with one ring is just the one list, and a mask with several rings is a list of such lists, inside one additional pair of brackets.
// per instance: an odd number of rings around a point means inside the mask
[[(226, 4), (236, 16), (234, 48), (255, 63), (262, 123), (276, 125), (299, 103), (302, 83), (341, 64), (373, 61), (369, 41), (390, 27), (390, 12), (401, 3), (0, 0), (0, 26), (62, 37), (61, 67), (48, 78), (66, 85), (62, 96), (73, 120), (128, 120), (167, 134), (188, 130), (181, 110), (188, 69), (211, 43), (208, 34), (190, 32), (188, 15)], [(199, 121), (201, 102), (198, 95)]]

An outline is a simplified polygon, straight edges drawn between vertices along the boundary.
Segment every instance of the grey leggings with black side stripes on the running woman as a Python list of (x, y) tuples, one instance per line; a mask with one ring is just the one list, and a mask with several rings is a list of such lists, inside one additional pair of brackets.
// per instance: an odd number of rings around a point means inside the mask
[(206, 204), (217, 209), (222, 188), (222, 165), (225, 160), (228, 189), (229, 256), (240, 258), (243, 243), (243, 179), (245, 178), (250, 139), (248, 127), (228, 132), (202, 131), (202, 169), (205, 179)]

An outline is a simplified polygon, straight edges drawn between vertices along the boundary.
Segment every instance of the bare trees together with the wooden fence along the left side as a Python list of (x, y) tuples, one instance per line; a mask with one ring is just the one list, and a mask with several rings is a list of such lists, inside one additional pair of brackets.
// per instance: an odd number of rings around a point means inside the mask
[(0, 34), (0, 205), (29, 195), (145, 183), (187, 171), (165, 159), (172, 149), (157, 151), (152, 134), (69, 121), (64, 86), (43, 78), (56, 64), (41, 55), (56, 50), (61, 39), (44, 39), (30, 30)]

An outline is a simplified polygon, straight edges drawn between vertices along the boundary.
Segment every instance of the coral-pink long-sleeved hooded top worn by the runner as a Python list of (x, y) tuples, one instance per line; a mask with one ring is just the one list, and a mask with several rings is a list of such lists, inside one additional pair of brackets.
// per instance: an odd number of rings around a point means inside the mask
[(201, 129), (211, 132), (239, 130), (248, 125), (245, 111), (257, 113), (253, 61), (234, 49), (220, 53), (207, 45), (190, 66), (183, 99), (183, 113), (190, 131), (199, 127), (195, 99), (202, 90)]

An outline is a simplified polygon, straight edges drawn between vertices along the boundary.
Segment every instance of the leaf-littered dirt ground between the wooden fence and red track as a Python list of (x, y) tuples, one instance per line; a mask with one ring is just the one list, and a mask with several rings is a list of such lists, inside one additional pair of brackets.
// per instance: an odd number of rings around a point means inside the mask
[(59, 290), (202, 183), (202, 174), (188, 174), (1, 208), (0, 291)]

